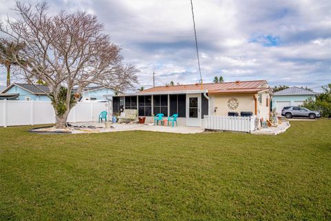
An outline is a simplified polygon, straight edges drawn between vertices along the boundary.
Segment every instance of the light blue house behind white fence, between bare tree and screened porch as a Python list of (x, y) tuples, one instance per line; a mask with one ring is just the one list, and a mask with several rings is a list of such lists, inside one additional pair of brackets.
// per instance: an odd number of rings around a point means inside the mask
[(104, 101), (114, 95), (114, 91), (102, 86), (88, 87), (81, 93), (81, 102)]

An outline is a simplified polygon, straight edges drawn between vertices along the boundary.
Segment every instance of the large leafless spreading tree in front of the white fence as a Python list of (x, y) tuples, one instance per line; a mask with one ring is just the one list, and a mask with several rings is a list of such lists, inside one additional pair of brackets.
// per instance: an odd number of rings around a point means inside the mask
[[(123, 90), (137, 82), (137, 68), (123, 65), (121, 48), (103, 34), (97, 17), (64, 11), (50, 16), (46, 2), (32, 6), (17, 1), (14, 10), (19, 18), (6, 19), (0, 31), (11, 41), (24, 44), (22, 50), (12, 51), (11, 59), (27, 79), (40, 79), (48, 85), (57, 128), (66, 127), (70, 109), (86, 86)], [(77, 88), (75, 95), (73, 88)]]

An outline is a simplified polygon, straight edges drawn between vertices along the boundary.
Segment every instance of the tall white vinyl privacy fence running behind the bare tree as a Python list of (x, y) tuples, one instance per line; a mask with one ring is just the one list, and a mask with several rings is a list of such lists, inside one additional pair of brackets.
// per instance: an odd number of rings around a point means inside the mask
[[(68, 122), (97, 121), (101, 111), (110, 113), (110, 104), (110, 102), (78, 102), (71, 109)], [(0, 126), (54, 123), (55, 113), (50, 102), (0, 100)]]

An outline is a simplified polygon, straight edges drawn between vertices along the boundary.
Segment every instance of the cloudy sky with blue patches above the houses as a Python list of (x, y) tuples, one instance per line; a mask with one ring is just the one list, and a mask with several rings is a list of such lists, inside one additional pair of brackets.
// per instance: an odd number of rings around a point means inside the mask
[[(30, 2), (34, 2), (30, 0)], [(266, 79), (271, 86), (331, 82), (331, 1), (193, 0), (201, 72), (225, 81)], [(56, 0), (52, 13), (84, 10), (99, 17), (139, 86), (199, 81), (190, 0)], [(0, 0), (0, 17), (15, 17)], [(5, 84), (5, 69), (0, 70)]]

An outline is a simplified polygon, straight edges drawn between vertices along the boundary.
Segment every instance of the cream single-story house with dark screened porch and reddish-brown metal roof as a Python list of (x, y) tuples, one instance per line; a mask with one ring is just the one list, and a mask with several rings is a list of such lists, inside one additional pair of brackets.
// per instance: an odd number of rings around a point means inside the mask
[[(121, 108), (137, 109), (139, 117), (150, 120), (157, 113), (179, 115), (181, 126), (202, 126), (204, 115), (250, 112), (269, 119), (272, 92), (265, 80), (216, 84), (157, 86), (134, 94), (113, 96), (113, 113)], [(149, 118), (148, 118), (149, 117)]]

